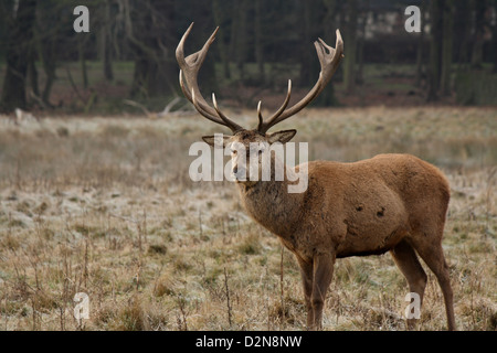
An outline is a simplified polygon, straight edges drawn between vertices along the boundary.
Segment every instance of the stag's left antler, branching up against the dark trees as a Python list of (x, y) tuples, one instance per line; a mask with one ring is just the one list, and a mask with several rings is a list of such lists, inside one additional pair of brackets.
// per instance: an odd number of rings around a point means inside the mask
[[(176, 49), (176, 60), (178, 61), (178, 64), (181, 68), (179, 74), (181, 90), (183, 92), (187, 99), (193, 104), (195, 109), (209, 120), (226, 126), (233, 132), (243, 130), (243, 128), (240, 125), (233, 122), (223, 113), (221, 113), (221, 110), (218, 107), (214, 94), (212, 94), (214, 108), (212, 108), (205, 101), (205, 99), (202, 97), (202, 94), (200, 93), (199, 84), (197, 81), (200, 67), (202, 66), (203, 61), (205, 60), (209, 47), (215, 40), (215, 33), (218, 33), (219, 26), (214, 30), (214, 32), (211, 34), (211, 36), (200, 51), (184, 57), (183, 51), (184, 42), (188, 38), (188, 34), (190, 34), (192, 28), (193, 22), (190, 24), (187, 32), (184, 32), (183, 36), (181, 38), (181, 41), (178, 44), (178, 47)], [(183, 75), (186, 84), (183, 82)]]

